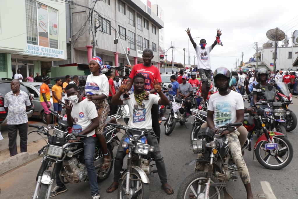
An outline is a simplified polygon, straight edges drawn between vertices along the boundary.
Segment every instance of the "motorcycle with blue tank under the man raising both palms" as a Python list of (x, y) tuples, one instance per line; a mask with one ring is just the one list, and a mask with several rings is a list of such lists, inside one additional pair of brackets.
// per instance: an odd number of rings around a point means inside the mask
[[(111, 127), (117, 127), (125, 130), (125, 140), (122, 142), (122, 147), (128, 154), (127, 168), (122, 172), (119, 179), (118, 199), (123, 198), (149, 198), (149, 178), (147, 175), (156, 173), (157, 170), (151, 171), (153, 165), (150, 152), (154, 151), (154, 146), (147, 143), (146, 135), (154, 135), (151, 130), (138, 130), (123, 127), (121, 124), (111, 124)], [(130, 132), (138, 131), (138, 134)], [(156, 136), (155, 136), (156, 137)], [(126, 197), (125, 197), (126, 196)]]

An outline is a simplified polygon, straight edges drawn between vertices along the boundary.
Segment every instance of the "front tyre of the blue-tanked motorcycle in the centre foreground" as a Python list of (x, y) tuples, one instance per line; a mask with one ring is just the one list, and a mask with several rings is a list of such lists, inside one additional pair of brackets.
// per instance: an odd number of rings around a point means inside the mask
[[(136, 176), (137, 179), (141, 179), (139, 173), (134, 168), (132, 168), (131, 177), (133, 177), (133, 175)], [(125, 186), (126, 186), (126, 172), (123, 173), (121, 177), (122, 177), (123, 180), (119, 180), (119, 188), (118, 188), (118, 193), (117, 193), (118, 199), (124, 199), (124, 196), (127, 198), (127, 196), (124, 195), (124, 193), (123, 193), (124, 192), (123, 188), (125, 189)], [(149, 183), (148, 184), (143, 183), (143, 181), (141, 181), (141, 180), (139, 182), (140, 182), (140, 186), (142, 186), (142, 189), (141, 189), (142, 193), (139, 194), (139, 196), (136, 197), (136, 198), (138, 198), (138, 199), (149, 199), (149, 197), (150, 197), (150, 195), (149, 195), (149, 193), (150, 193)], [(135, 187), (131, 187), (131, 181), (130, 181), (129, 187), (131, 189), (135, 189)], [(141, 190), (139, 190), (139, 191), (141, 191)]]

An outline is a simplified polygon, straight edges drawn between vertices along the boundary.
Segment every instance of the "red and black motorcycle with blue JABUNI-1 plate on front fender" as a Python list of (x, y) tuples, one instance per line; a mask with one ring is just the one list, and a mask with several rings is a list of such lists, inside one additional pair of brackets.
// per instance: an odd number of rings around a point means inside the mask
[[(262, 103), (257, 103), (262, 105)], [(287, 166), (293, 158), (293, 147), (283, 133), (277, 131), (268, 131), (264, 118), (264, 109), (257, 108), (252, 115), (244, 116), (243, 126), (248, 131), (248, 139), (242, 147), (242, 150), (248, 146), (251, 151), (251, 141), (253, 134), (257, 132), (258, 139), (254, 145), (254, 154), (257, 161), (267, 169), (282, 169)], [(276, 130), (279, 130), (281, 125), (277, 125)], [(283, 127), (283, 126), (282, 126)], [(261, 135), (261, 131), (263, 135)], [(272, 158), (270, 158), (273, 156)]]

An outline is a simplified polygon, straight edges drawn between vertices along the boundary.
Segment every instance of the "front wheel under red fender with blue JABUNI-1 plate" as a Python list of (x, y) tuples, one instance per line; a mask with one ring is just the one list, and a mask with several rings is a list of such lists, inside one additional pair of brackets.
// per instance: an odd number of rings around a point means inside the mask
[(265, 144), (267, 141), (262, 141), (255, 149), (257, 161), (267, 169), (278, 170), (282, 169), (292, 161), (293, 147), (290, 141), (285, 136), (277, 136), (272, 139), (272, 143), (277, 143), (277, 154), (275, 150), (266, 150)]

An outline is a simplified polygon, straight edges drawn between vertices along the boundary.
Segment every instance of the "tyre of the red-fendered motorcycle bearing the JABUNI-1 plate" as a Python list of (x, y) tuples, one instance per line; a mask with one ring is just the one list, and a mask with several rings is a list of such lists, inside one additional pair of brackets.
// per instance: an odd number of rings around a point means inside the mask
[[(293, 158), (293, 146), (291, 145), (290, 141), (285, 138), (285, 136), (277, 136), (274, 139), (274, 143), (279, 143), (281, 146), (284, 145), (284, 147), (287, 147), (286, 149), (284, 150), (287, 150), (286, 152), (288, 152), (287, 154), (287, 157), (284, 158), (284, 161), (279, 163), (279, 159), (278, 158), (275, 158), (275, 156), (273, 155), (270, 155), (270, 153), (265, 153), (266, 154), (266, 157), (263, 159), (262, 156), (261, 156), (261, 151), (262, 152), (266, 152), (264, 150), (264, 146), (265, 144), (267, 143), (267, 141), (263, 141), (262, 143), (259, 143), (255, 149), (255, 153), (256, 153), (256, 158), (257, 158), (257, 161), (264, 167), (266, 167), (267, 169), (272, 169), (272, 170), (279, 170), (279, 169), (282, 169), (286, 166), (288, 166), (288, 164), (292, 161), (292, 158)], [(282, 143), (281, 143), (282, 142)], [(284, 148), (282, 147), (282, 148)], [(279, 152), (279, 153), (283, 153), (283, 152)], [(272, 159), (275, 158), (275, 160), (277, 161), (278, 164), (276, 165), (273, 165), (271, 162), (269, 162), (269, 159), (270, 157), (272, 156)], [(280, 156), (278, 156), (280, 157)]]

